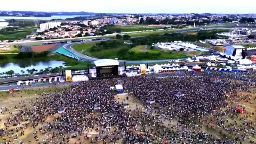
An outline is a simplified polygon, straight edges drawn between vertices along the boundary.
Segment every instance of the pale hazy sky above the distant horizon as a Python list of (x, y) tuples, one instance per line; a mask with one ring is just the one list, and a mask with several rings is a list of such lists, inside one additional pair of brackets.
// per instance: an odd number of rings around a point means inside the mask
[(255, 0), (3, 0), (7, 11), (100, 13), (256, 13)]

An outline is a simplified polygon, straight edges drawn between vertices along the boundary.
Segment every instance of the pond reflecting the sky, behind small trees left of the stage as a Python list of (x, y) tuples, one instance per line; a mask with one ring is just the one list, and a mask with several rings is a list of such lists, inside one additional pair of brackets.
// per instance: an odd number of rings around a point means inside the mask
[(27, 74), (27, 69), (37, 69), (39, 72), (39, 70), (41, 69), (45, 69), (47, 67), (51, 67), (51, 68), (55, 68), (55, 67), (65, 67), (65, 65), (63, 65), (64, 61), (56, 61), (56, 60), (52, 60), (52, 61), (22, 61), (22, 62), (17, 62), (17, 63), (0, 63), (0, 73), (5, 73), (6, 71), (9, 70), (13, 70), (15, 74), (19, 73), (21, 74), (21, 70), (25, 71), (25, 74)]

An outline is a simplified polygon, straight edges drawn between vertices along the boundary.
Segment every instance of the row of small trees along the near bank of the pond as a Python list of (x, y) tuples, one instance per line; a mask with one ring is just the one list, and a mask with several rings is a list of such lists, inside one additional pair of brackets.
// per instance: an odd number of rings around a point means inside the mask
[(9, 71), (0, 73), (0, 76), (6, 76), (6, 75), (7, 76), (13, 76), (13, 75), (33, 75), (33, 74), (38, 74), (38, 73), (41, 73), (41, 74), (43, 74), (43, 73), (61, 73), (62, 69), (63, 69), (62, 66), (55, 67), (55, 68), (47, 67), (45, 69), (40, 69), (40, 70), (37, 70), (37, 69), (33, 68), (33, 69), (27, 69), (26, 71), (21, 70), (20, 73), (14, 73), (13, 70), (9, 70)]

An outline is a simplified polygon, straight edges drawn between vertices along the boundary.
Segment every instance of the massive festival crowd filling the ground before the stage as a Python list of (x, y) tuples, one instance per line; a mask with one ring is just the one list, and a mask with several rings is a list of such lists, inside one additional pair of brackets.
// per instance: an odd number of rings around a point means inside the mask
[[(238, 77), (232, 73), (193, 75), (185, 72), (181, 75), (93, 80), (61, 92), (40, 93), (35, 101), (20, 102), (22, 108), (6, 119), (0, 138), (17, 139), (18, 135), (7, 127), (18, 125), (15, 131), (19, 135), (28, 134), (25, 129), (33, 127), (35, 141), (46, 135), (45, 143), (67, 143), (76, 135), (84, 137), (77, 143), (115, 143), (120, 139), (123, 143), (238, 143), (246, 139), (254, 142), (255, 123), (249, 117), (255, 110), (240, 119), (242, 124), (228, 120), (238, 117), (231, 104), (239, 106), (239, 101), (252, 101), (250, 95), (241, 97), (239, 92), (255, 93), (250, 90), (254, 83), (230, 79), (251, 80), (251, 74), (243, 73)], [(210, 81), (212, 77), (221, 83)], [(134, 95), (134, 102), (154, 100), (155, 103), (143, 103), (134, 111), (123, 108), (115, 100), (116, 93), (110, 91), (110, 86), (117, 83)], [(96, 105), (98, 110), (94, 110)], [(222, 110), (223, 107), (226, 109)], [(58, 111), (62, 113), (57, 114)], [(3, 108), (3, 113), (9, 113), (9, 108)], [(205, 129), (214, 129), (214, 124), (226, 130), (220, 132), (220, 137), (205, 132)], [(89, 138), (92, 131), (96, 133)]]

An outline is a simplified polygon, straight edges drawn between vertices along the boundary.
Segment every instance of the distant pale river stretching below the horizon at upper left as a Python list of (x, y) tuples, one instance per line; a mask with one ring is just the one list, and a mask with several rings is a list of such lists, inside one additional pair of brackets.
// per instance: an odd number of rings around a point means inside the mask
[(24, 19), (24, 20), (51, 20), (67, 19), (75, 17), (90, 17), (91, 15), (52, 15), (52, 17), (0, 17), (0, 19)]

